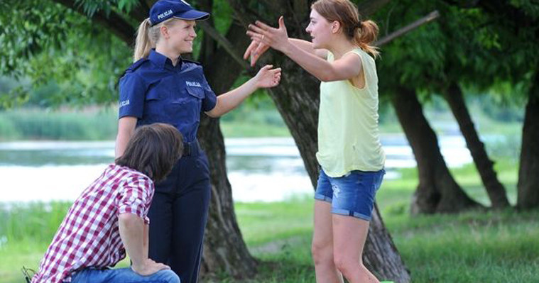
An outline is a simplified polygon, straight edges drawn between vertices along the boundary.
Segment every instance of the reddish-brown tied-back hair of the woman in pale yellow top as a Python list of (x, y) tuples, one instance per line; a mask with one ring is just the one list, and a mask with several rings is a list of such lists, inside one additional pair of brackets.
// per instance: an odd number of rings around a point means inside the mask
[(349, 0), (317, 0), (311, 9), (320, 13), (327, 21), (338, 21), (347, 38), (353, 40), (365, 52), (379, 56), (378, 48), (371, 45), (378, 36), (378, 25), (374, 21), (361, 21), (357, 6)]

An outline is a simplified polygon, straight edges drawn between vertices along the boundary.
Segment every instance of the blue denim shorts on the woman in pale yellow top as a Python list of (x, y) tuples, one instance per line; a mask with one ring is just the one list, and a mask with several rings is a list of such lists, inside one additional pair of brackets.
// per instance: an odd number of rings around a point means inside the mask
[(385, 170), (364, 172), (355, 170), (342, 177), (329, 177), (320, 169), (315, 199), (327, 201), (332, 213), (371, 221), (374, 196), (380, 188)]

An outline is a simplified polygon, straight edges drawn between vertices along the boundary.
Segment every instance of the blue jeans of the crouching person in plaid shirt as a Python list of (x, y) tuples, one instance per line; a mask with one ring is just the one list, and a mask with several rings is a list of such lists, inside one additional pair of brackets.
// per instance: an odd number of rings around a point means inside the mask
[(86, 268), (71, 277), (72, 283), (180, 283), (180, 277), (172, 270), (160, 270), (148, 276), (136, 274), (131, 267), (112, 270)]

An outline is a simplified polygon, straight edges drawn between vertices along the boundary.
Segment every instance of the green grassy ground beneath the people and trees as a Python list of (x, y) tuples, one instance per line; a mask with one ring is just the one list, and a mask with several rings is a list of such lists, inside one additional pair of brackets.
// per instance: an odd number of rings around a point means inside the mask
[[(498, 165), (514, 203), (516, 166)], [(472, 165), (452, 170), (467, 193), (488, 198)], [(539, 211), (470, 211), (410, 216), (415, 170), (383, 183), (377, 201), (413, 282), (539, 282)], [(0, 209), (0, 282), (21, 282), (22, 265), (36, 268), (69, 204), (32, 204)], [(314, 282), (310, 257), (312, 199), (236, 204), (251, 253), (261, 260), (247, 282)], [(285, 220), (285, 221), (283, 221)], [(122, 262), (121, 266), (125, 266)], [(214, 282), (236, 280), (217, 274)]]

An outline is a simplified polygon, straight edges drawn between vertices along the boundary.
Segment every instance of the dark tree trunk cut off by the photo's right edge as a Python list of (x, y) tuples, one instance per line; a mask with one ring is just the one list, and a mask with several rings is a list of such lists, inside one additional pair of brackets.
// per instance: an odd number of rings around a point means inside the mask
[(521, 167), (518, 170), (519, 209), (539, 206), (539, 72), (535, 72), (522, 128)]

